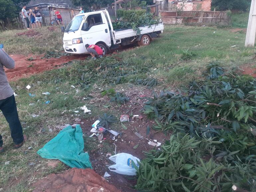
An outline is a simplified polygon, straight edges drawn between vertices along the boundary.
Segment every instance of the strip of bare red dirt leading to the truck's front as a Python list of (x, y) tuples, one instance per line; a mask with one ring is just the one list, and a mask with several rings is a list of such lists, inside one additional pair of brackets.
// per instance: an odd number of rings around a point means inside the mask
[(43, 58), (44, 55), (10, 55), (15, 60), (14, 69), (6, 69), (8, 80), (17, 80), (23, 77), (29, 77), (35, 73), (46, 70), (56, 69), (63, 66), (64, 63), (78, 59), (85, 59), (86, 55), (69, 55), (60, 58)]

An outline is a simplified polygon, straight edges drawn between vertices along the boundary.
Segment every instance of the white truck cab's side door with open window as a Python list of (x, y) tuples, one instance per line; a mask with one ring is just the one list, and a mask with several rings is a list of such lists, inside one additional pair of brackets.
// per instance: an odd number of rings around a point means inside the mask
[(87, 15), (81, 29), (83, 45), (96, 44), (104, 42), (107, 46), (111, 46), (111, 38), (108, 29), (108, 24), (105, 22), (103, 13), (92, 13)]

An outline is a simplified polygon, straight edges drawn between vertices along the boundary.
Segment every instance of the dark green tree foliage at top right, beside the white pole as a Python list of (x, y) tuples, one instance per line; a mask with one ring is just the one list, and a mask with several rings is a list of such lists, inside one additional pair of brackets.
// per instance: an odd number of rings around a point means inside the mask
[(212, 0), (212, 8), (220, 11), (240, 10), (246, 11), (250, 8), (251, 0)]

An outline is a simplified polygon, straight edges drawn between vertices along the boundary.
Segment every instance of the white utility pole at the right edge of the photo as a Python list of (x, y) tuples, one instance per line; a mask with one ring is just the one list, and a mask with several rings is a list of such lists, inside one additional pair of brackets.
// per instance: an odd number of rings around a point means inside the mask
[(246, 39), (245, 47), (254, 47), (256, 36), (256, 0), (252, 0)]

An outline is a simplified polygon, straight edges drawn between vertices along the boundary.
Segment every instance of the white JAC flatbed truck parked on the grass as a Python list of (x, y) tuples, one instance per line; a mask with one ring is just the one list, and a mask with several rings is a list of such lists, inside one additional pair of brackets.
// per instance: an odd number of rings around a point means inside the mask
[(152, 38), (163, 33), (164, 24), (139, 27), (141, 34), (133, 29), (113, 30), (107, 10), (76, 15), (67, 25), (64, 32), (63, 48), (67, 53), (87, 53), (86, 44), (98, 45), (103, 54), (110, 52), (110, 47), (129, 45), (138, 42), (139, 45), (149, 45)]

